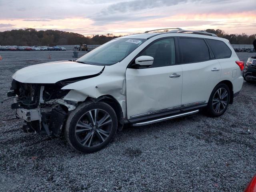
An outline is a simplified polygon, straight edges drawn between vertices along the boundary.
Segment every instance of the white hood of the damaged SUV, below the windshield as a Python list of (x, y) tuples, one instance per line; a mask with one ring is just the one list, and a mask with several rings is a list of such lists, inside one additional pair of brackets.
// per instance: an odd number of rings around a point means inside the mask
[(28, 66), (13, 74), (22, 83), (56, 83), (60, 80), (98, 74), (104, 66), (56, 61)]

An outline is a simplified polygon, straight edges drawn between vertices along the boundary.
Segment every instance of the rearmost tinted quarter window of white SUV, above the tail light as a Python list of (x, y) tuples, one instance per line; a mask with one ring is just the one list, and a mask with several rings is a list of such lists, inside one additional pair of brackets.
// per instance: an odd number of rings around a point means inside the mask
[(231, 50), (224, 42), (212, 39), (207, 39), (207, 42), (216, 59), (230, 58)]

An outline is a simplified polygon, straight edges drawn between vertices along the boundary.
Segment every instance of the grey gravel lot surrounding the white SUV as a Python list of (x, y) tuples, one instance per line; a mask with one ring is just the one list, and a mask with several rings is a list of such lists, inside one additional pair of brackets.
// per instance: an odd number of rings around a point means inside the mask
[[(68, 51), (0, 55), (0, 100), (16, 70), (72, 58)], [(22, 132), (10, 104), (0, 104), (0, 191), (238, 192), (256, 173), (256, 84), (244, 82), (220, 118), (201, 112), (128, 127), (94, 154), (74, 152), (64, 138)]]

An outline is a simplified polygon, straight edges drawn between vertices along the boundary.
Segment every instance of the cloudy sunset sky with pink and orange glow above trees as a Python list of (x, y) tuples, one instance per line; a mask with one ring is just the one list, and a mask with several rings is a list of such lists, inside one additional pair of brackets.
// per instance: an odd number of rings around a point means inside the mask
[(159, 28), (256, 34), (256, 0), (0, 0), (0, 31), (126, 35)]

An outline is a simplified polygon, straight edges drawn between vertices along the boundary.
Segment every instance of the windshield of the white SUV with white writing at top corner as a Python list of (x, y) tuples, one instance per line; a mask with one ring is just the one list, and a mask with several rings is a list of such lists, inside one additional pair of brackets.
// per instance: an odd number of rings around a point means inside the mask
[(114, 39), (76, 60), (91, 65), (112, 65), (120, 62), (146, 39)]

